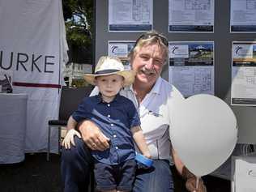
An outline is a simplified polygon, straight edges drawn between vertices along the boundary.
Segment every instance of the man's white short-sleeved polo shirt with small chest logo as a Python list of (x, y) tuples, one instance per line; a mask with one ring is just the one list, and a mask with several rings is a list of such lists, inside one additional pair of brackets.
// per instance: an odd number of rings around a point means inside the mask
[[(98, 89), (95, 88), (91, 95), (97, 93)], [(132, 100), (138, 109), (141, 128), (152, 159), (171, 160), (169, 127), (172, 126), (170, 117), (175, 106), (184, 99), (181, 92), (164, 79), (159, 78), (151, 92), (144, 97), (140, 104), (134, 95), (132, 86), (125, 87), (120, 94)]]

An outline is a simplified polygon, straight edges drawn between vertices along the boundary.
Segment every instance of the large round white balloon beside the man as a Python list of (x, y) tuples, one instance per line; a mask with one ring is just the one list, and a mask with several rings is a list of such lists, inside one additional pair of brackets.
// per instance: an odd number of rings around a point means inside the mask
[(171, 141), (190, 172), (207, 175), (228, 159), (237, 143), (237, 119), (223, 100), (190, 96), (173, 112)]

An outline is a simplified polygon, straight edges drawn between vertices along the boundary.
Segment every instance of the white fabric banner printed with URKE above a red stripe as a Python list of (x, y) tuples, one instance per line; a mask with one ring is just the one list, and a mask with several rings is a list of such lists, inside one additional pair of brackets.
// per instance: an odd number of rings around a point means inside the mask
[[(45, 151), (48, 121), (58, 118), (66, 58), (62, 2), (0, 0), (0, 23), (0, 70), (12, 71), (15, 93), (28, 94), (25, 151)], [(53, 151), (57, 139), (55, 132)]]

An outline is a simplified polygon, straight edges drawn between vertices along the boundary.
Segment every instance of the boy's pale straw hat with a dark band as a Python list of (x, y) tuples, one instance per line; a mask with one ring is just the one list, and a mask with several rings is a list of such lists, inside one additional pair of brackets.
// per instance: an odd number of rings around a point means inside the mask
[(134, 82), (135, 73), (133, 70), (125, 70), (122, 62), (118, 58), (102, 56), (96, 65), (94, 74), (86, 74), (83, 78), (92, 85), (95, 85), (95, 78), (103, 75), (121, 75), (124, 78), (124, 86)]

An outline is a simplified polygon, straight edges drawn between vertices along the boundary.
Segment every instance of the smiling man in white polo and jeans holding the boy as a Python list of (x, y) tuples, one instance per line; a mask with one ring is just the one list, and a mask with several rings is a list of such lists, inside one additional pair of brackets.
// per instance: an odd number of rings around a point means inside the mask
[[(183, 99), (173, 85), (160, 78), (168, 58), (168, 41), (158, 32), (144, 33), (130, 52), (130, 64), (136, 72), (134, 83), (120, 94), (134, 102), (139, 111), (141, 128), (154, 160), (152, 169), (138, 169), (134, 181), (134, 192), (173, 192), (173, 175), (169, 164), (175, 164), (178, 173), (186, 178), (189, 191), (205, 192), (203, 181), (195, 189), (195, 177), (179, 160), (169, 140), (172, 129), (170, 116), (173, 108)], [(65, 192), (86, 191), (92, 159), (91, 150), (104, 151), (109, 148), (109, 138), (92, 122), (84, 121), (79, 126), (84, 141), (76, 139), (76, 148), (62, 153), (62, 179)], [(173, 157), (173, 158), (172, 158)]]

